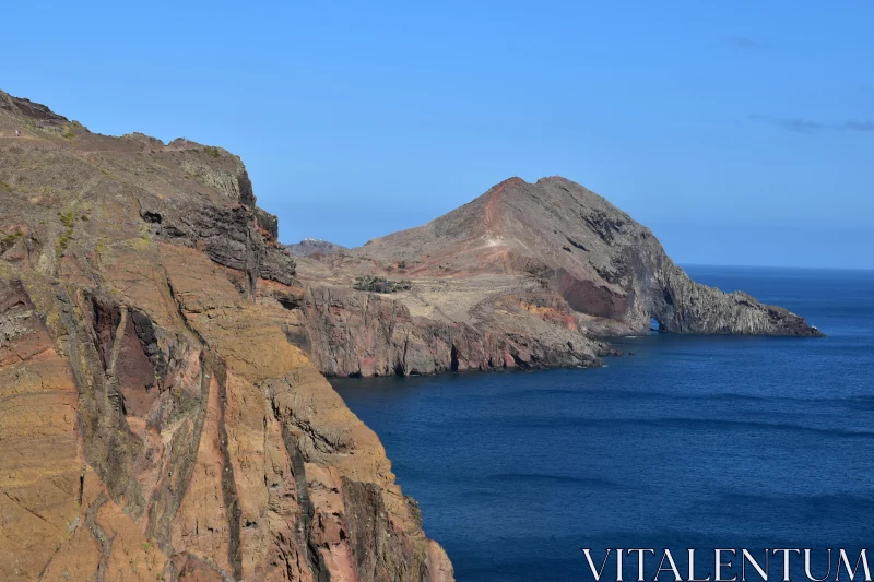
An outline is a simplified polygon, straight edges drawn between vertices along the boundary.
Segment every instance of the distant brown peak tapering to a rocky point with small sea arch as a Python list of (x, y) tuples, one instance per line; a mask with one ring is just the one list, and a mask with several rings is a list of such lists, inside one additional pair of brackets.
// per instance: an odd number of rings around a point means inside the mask
[(548, 281), (578, 312), (631, 332), (816, 335), (802, 318), (689, 280), (652, 233), (565, 178), (510, 178), (425, 226), (354, 254), (405, 261), (411, 276), (494, 272)]

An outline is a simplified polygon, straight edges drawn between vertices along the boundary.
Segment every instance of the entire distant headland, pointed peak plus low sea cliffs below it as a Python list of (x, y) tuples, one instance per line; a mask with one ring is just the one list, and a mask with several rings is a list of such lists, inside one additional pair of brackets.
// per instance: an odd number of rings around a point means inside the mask
[[(652, 233), (564, 178), (511, 178), (424, 226), (299, 258), (308, 349), (329, 375), (594, 366), (595, 340), (647, 333), (819, 336), (803, 318), (695, 283)], [(356, 276), (410, 282), (350, 292)]]

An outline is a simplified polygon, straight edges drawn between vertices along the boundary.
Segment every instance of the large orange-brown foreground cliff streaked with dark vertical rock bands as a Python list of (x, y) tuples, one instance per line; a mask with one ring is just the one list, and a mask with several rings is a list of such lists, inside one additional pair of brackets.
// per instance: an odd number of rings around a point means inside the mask
[(452, 580), (275, 234), (227, 152), (0, 93), (1, 580)]

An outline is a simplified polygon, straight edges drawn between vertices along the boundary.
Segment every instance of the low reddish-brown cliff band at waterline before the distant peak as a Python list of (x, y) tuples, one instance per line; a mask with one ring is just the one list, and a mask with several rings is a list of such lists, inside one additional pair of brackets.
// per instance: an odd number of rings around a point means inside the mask
[(403, 302), (377, 294), (310, 285), (302, 300), (302, 344), (328, 376), (589, 367), (611, 352), (581, 337), (567, 313), (555, 311), (565, 318), (558, 322), (529, 317), (524, 299), (504, 297), (496, 311), (505, 317), (472, 325), (413, 317)]

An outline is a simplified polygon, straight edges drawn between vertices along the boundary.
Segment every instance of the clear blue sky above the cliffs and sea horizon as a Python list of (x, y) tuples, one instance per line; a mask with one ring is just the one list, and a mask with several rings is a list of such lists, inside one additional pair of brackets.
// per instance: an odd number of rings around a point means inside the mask
[(347, 246), (562, 175), (680, 262), (874, 268), (874, 2), (4, 7), (0, 88), (240, 155)]

